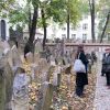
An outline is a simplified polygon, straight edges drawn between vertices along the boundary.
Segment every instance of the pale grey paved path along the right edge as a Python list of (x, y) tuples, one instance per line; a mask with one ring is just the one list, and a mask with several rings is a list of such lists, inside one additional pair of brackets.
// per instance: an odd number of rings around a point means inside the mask
[(110, 89), (106, 86), (106, 77), (100, 76), (101, 64), (98, 63), (95, 109), (94, 110), (110, 110)]

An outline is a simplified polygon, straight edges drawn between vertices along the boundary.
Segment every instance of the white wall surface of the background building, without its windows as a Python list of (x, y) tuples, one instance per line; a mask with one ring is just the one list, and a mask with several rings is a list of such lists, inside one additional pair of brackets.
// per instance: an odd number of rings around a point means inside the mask
[[(96, 29), (98, 26), (98, 20), (96, 19)], [(88, 24), (87, 30), (82, 30), (82, 24)], [(62, 28), (66, 28), (66, 30), (62, 30)], [(82, 34), (87, 34), (87, 40), (91, 40), (91, 18), (88, 15), (88, 18), (84, 18), (76, 30), (72, 30), (70, 25), (70, 32), (69, 37), (72, 37), (72, 34), (76, 34), (76, 38), (82, 38)], [(96, 30), (96, 36), (97, 36), (98, 30)], [(58, 26), (58, 24), (55, 24), (52, 22), (52, 24), (47, 28), (47, 37), (52, 38), (53, 34), (55, 34), (55, 37), (63, 37), (62, 34), (66, 34), (67, 37), (67, 25), (64, 24), (63, 26)]]

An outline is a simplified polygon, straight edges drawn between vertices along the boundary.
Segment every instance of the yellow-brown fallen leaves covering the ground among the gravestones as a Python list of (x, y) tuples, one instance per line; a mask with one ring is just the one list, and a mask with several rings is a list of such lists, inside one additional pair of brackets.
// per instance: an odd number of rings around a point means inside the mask
[[(30, 64), (24, 62), (23, 68), (26, 70), (28, 75), (31, 75)], [(62, 84), (53, 94), (53, 110), (92, 110), (97, 74), (96, 68), (97, 64), (94, 65), (92, 73), (88, 74), (89, 84), (84, 90), (84, 98), (75, 96), (75, 74), (66, 75), (65, 73), (62, 73)], [(51, 78), (51, 80), (53, 78)], [(41, 84), (35, 82), (34, 80), (29, 85), (29, 99), (31, 106), (34, 106), (37, 101), (40, 86)]]

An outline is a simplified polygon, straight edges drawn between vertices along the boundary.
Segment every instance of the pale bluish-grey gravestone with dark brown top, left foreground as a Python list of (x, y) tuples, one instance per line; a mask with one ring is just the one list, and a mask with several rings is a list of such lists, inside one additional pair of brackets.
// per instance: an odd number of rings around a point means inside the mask
[(29, 110), (29, 82), (25, 70), (18, 67), (13, 80), (12, 110)]

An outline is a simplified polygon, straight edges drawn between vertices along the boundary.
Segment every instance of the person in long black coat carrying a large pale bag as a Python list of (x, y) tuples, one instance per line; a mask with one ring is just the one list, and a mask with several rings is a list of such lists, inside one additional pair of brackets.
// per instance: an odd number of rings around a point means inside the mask
[(85, 55), (82, 45), (78, 46), (78, 52), (77, 52), (76, 58), (79, 58), (86, 68), (86, 73), (76, 73), (76, 95), (78, 97), (81, 97), (85, 85), (88, 85), (88, 75), (87, 75), (88, 59)]

